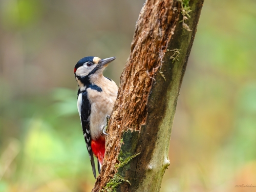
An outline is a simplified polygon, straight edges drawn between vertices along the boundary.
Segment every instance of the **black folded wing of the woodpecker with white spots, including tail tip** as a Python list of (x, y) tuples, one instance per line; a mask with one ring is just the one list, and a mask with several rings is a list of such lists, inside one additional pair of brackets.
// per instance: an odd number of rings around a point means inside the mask
[(90, 133), (90, 121), (89, 116), (91, 114), (91, 104), (87, 97), (87, 92), (82, 93), (82, 105), (81, 105), (81, 123), (82, 123), (82, 132), (84, 136), (84, 140), (86, 140), (87, 150), (89, 152), (91, 165), (93, 169), (93, 175), (96, 179), (96, 168), (94, 164), (94, 157), (93, 157), (93, 151), (91, 147), (91, 133)]

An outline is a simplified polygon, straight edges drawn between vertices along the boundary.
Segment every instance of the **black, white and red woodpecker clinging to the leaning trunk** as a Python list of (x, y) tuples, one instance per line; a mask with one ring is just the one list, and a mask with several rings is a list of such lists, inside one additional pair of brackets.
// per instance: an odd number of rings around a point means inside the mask
[(100, 174), (105, 154), (105, 128), (112, 113), (118, 87), (102, 72), (116, 57), (100, 59), (89, 56), (80, 59), (74, 68), (78, 84), (77, 109), (80, 116), (84, 140), (90, 156), (93, 175), (96, 179), (94, 155), (98, 160)]

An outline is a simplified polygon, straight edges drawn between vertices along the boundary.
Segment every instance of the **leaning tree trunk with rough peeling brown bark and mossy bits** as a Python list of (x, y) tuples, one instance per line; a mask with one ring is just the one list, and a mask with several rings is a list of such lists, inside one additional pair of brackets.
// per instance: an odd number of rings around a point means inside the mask
[[(188, 0), (145, 2), (121, 75), (101, 174), (92, 191), (160, 190), (169, 165), (179, 90), (203, 1), (190, 0), (191, 12), (184, 8)], [(186, 13), (190, 18), (186, 19)], [(119, 184), (113, 181), (117, 174)]]

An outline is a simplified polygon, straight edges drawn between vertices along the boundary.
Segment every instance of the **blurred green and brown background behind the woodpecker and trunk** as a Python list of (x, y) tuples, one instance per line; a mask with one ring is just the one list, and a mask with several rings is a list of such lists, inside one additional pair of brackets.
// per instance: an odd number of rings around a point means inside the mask
[[(120, 82), (142, 0), (0, 0), (0, 192), (91, 191), (73, 68), (116, 56)], [(206, 0), (161, 192), (256, 191), (256, 2)]]

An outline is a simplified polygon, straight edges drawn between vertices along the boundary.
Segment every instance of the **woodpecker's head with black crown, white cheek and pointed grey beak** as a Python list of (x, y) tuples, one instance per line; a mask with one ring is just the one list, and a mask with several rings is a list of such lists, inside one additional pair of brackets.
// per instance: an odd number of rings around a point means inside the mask
[(75, 76), (90, 77), (94, 74), (102, 74), (104, 68), (115, 59), (116, 57), (110, 57), (106, 59), (100, 59), (99, 57), (84, 57), (80, 59), (75, 65)]

